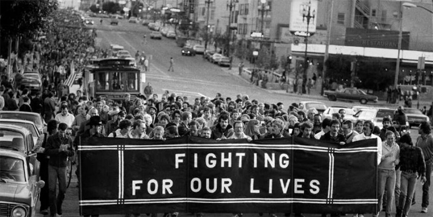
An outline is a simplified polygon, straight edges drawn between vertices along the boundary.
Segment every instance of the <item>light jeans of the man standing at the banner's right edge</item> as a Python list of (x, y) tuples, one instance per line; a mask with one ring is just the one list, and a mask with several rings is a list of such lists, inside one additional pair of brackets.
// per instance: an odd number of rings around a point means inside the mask
[(394, 197), (395, 190), (395, 170), (394, 169), (378, 169), (378, 204), (377, 210), (382, 209), (383, 204), (383, 194), (385, 193), (385, 188), (387, 193), (386, 198), (386, 214), (390, 214), (392, 210), (392, 200)]

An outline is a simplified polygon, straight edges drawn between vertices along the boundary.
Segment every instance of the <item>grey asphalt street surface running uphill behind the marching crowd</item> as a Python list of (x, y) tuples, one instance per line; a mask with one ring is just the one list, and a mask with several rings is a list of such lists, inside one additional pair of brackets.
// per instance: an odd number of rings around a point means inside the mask
[[(200, 96), (215, 97), (216, 93), (221, 93), (223, 97), (235, 98), (237, 94), (248, 94), (250, 99), (257, 99), (259, 102), (277, 103), (283, 102), (287, 107), (293, 102), (300, 101), (319, 101), (328, 106), (346, 106), (352, 107), (360, 105), (359, 103), (349, 102), (330, 102), (326, 98), (307, 97), (288, 95), (271, 90), (262, 89), (251, 85), (245, 79), (231, 73), (227, 68), (221, 68), (204, 60), (201, 55), (181, 56), (181, 48), (176, 46), (175, 40), (149, 39), (151, 31), (141, 24), (128, 23), (127, 20), (120, 20), (118, 26), (109, 24), (110, 19), (104, 19), (100, 25), (99, 20), (93, 18), (95, 25), (90, 26), (97, 29), (97, 46), (108, 48), (110, 44), (124, 46), (131, 53), (131, 56), (137, 51), (145, 51), (150, 59), (150, 71), (146, 73), (146, 82), (150, 82), (154, 92), (162, 94), (165, 90), (175, 92), (181, 96), (188, 96), (190, 101)], [(143, 35), (147, 35), (147, 40), (143, 40)], [(174, 58), (174, 72), (169, 72), (170, 57)], [(314, 100), (312, 100), (314, 99)], [(370, 104), (371, 105), (371, 104)], [(418, 136), (417, 130), (411, 130), (412, 140)], [(77, 177), (74, 175), (71, 186), (67, 190), (64, 202), (63, 216), (79, 216), (79, 192), (76, 187)], [(347, 184), (350, 187), (350, 183)], [(433, 186), (431, 186), (433, 187)], [(418, 181), (416, 188), (416, 204), (411, 207), (409, 216), (432, 216), (433, 201), (428, 207), (429, 213), (420, 213), (421, 210), (421, 184)], [(430, 195), (433, 200), (433, 196)], [(39, 211), (39, 209), (38, 209)], [(393, 214), (395, 207), (393, 208)], [(277, 213), (278, 216), (284, 216), (283, 213)], [(305, 214), (306, 216), (320, 216), (320, 214)], [(38, 214), (37, 216), (43, 216)], [(104, 215), (105, 216), (105, 215)], [(110, 215), (122, 216), (122, 215)], [(141, 216), (146, 216), (142, 214)], [(160, 213), (158, 216), (162, 216)], [(180, 213), (179, 216), (194, 216), (191, 213)], [(231, 213), (205, 213), (205, 216), (231, 216)], [(258, 213), (244, 213), (244, 216), (259, 216)], [(267, 216), (265, 213), (263, 216)], [(351, 215), (348, 215), (351, 216)], [(366, 214), (371, 216), (371, 214)], [(384, 216), (384, 212), (380, 213)]]

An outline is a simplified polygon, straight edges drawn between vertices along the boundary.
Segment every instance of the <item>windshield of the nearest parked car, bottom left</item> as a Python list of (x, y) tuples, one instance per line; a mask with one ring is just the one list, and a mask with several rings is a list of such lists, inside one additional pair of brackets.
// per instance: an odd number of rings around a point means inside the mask
[(0, 157), (0, 177), (7, 181), (26, 181), (24, 161), (15, 157)]

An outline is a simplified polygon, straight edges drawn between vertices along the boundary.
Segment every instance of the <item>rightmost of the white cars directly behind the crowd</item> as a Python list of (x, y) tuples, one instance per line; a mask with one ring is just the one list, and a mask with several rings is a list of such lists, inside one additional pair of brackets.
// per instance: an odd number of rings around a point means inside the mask
[[(374, 123), (374, 126), (378, 126), (380, 129), (382, 129), (383, 117), (389, 116), (390, 118), (392, 118), (394, 115), (394, 111), (394, 109), (390, 108), (361, 109), (356, 114), (354, 114), (353, 117), (355, 117), (356, 120), (369, 120)], [(409, 126), (409, 123), (406, 123), (406, 126)]]

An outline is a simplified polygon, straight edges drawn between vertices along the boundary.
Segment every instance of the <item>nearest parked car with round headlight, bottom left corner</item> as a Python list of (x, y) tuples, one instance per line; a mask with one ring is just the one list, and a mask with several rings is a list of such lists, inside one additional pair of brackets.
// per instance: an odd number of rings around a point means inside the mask
[[(36, 154), (35, 154), (36, 155)], [(0, 213), (2, 216), (36, 216), (41, 188), (39, 161), (19, 151), (0, 150)]]

